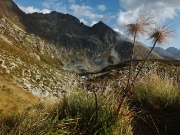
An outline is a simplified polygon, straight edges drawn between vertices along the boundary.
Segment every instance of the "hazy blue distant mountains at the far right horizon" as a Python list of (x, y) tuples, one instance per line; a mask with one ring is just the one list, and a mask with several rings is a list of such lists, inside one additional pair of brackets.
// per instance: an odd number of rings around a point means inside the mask
[(167, 49), (155, 47), (154, 51), (165, 59), (180, 60), (180, 50), (175, 47), (169, 47)]

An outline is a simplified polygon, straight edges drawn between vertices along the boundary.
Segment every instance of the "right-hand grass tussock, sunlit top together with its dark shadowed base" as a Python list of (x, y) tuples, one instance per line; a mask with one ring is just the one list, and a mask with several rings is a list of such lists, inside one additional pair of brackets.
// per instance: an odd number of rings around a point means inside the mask
[(180, 133), (180, 91), (169, 80), (151, 76), (137, 84), (131, 101), (137, 112), (134, 131), (137, 134)]

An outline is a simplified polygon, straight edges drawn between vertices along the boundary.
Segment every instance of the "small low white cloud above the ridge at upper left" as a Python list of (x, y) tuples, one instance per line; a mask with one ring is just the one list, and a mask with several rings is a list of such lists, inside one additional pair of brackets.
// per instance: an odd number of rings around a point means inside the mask
[(34, 12), (39, 12), (39, 13), (50, 13), (51, 11), (48, 9), (38, 9), (38, 8), (34, 8), (33, 6), (30, 7), (23, 7), (19, 5), (19, 8), (24, 11), (25, 13), (34, 13)]

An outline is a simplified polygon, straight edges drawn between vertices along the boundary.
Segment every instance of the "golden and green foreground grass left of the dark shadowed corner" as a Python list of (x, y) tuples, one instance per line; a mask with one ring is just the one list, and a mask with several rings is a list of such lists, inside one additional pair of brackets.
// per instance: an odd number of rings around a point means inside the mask
[[(115, 93), (83, 89), (54, 102), (40, 101), (16, 84), (0, 80), (0, 135), (8, 134), (132, 134), (132, 114), (127, 105), (115, 117)], [(97, 113), (97, 115), (96, 115)]]

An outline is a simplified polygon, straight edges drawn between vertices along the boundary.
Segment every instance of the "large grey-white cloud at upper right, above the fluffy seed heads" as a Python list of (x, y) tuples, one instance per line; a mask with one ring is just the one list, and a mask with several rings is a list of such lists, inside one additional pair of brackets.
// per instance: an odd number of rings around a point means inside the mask
[(134, 20), (142, 11), (150, 11), (157, 23), (165, 22), (178, 16), (180, 0), (119, 0), (126, 11), (119, 12), (118, 25)]

